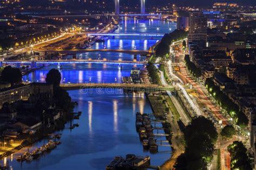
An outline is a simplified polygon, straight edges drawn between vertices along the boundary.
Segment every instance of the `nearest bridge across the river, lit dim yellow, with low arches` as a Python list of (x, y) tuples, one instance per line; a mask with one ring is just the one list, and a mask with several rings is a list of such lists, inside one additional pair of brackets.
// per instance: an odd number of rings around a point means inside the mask
[(126, 83), (77, 83), (77, 84), (60, 84), (65, 90), (78, 90), (87, 93), (88, 89), (95, 88), (97, 91), (105, 93), (115, 93), (116, 90), (123, 89), (126, 93), (130, 91), (142, 91), (153, 93), (158, 91), (174, 91), (174, 86), (161, 86), (157, 84), (126, 84)]

